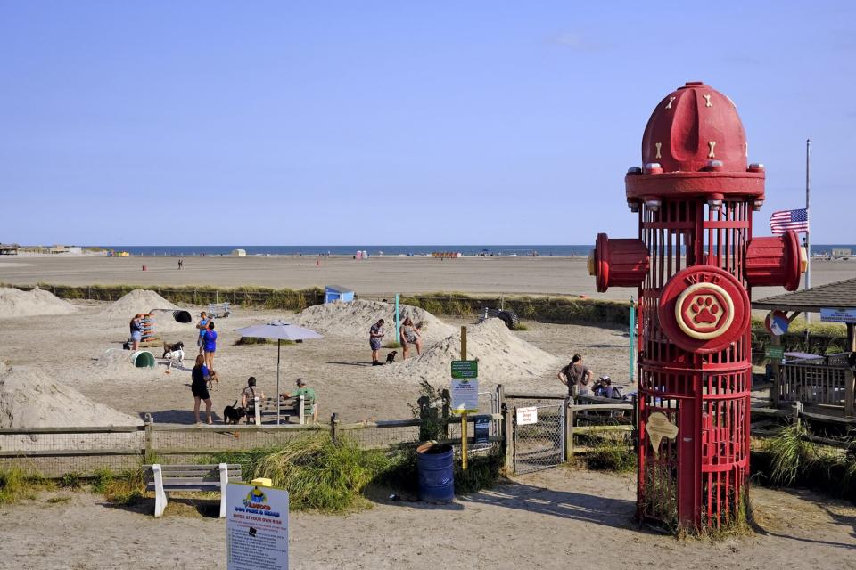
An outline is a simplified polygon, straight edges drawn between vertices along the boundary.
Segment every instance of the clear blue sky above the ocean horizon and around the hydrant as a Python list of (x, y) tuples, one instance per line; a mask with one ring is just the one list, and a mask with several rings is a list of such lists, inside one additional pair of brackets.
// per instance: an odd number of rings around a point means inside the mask
[[(0, 0), (0, 241), (631, 237), (654, 105), (728, 94), (756, 214), (852, 243), (853, 2)], [(850, 204), (848, 208), (842, 208)]]

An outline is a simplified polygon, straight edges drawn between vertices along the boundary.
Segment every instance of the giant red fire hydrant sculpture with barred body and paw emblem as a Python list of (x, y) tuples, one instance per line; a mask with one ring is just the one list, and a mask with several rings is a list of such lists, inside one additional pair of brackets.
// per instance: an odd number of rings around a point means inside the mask
[(601, 233), (597, 290), (638, 287), (638, 515), (717, 528), (743, 505), (749, 471), (749, 295), (799, 286), (794, 232), (752, 237), (764, 167), (747, 164), (734, 102), (687, 83), (657, 105), (643, 168), (625, 177), (639, 236)]

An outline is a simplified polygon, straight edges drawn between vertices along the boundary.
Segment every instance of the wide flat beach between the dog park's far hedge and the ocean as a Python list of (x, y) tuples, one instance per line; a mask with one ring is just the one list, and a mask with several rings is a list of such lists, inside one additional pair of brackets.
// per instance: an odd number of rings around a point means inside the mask
[[(388, 295), (399, 291), (427, 293), (543, 293), (588, 295), (626, 299), (633, 289), (597, 293), (582, 257), (465, 257), (440, 261), (430, 257), (192, 257), (177, 270), (175, 257), (21, 257), (0, 259), (0, 282), (89, 285), (263, 285), (267, 287), (323, 287), (337, 283), (363, 295)], [(141, 271), (142, 265), (147, 271)], [(821, 285), (856, 277), (856, 263), (812, 262), (811, 283)], [(785, 292), (758, 288), (753, 298)]]

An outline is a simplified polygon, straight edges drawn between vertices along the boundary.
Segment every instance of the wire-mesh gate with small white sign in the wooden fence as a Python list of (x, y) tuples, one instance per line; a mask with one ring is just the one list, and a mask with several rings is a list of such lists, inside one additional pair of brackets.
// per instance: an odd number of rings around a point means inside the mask
[(531, 473), (564, 462), (564, 403), (530, 406), (538, 421), (517, 425), (514, 408), (514, 473)]

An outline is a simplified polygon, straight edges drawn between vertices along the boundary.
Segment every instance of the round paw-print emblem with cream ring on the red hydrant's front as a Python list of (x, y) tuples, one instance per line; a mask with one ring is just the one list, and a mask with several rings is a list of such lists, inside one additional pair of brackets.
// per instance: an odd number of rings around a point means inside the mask
[(734, 305), (719, 285), (696, 283), (680, 295), (675, 312), (679, 327), (690, 337), (716, 338), (730, 326)]

